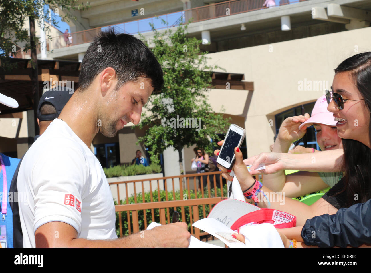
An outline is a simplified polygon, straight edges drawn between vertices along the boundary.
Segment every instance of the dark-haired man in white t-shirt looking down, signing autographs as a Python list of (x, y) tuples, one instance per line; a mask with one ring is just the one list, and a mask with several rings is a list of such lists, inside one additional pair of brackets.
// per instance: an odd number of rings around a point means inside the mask
[(98, 132), (113, 137), (128, 122), (139, 123), (163, 84), (153, 53), (132, 35), (101, 32), (85, 53), (79, 84), (21, 163), (18, 189), (31, 195), (19, 205), (23, 246), (188, 246), (183, 222), (117, 239), (111, 189), (89, 149)]

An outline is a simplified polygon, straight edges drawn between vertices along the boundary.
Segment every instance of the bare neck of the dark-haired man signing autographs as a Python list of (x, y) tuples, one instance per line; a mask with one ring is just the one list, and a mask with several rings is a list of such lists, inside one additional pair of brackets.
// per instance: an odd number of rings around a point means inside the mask
[(58, 118), (65, 121), (90, 149), (93, 138), (98, 133), (98, 117), (96, 102), (88, 93), (89, 90), (82, 94), (73, 94)]

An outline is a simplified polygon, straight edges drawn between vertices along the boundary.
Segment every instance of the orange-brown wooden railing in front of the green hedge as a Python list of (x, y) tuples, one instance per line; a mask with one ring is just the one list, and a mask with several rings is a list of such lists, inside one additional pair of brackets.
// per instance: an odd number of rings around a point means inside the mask
[[(198, 183), (198, 177), (200, 176), (200, 188)], [(193, 178), (193, 183), (190, 182)], [(175, 180), (175, 182), (174, 182)], [(206, 185), (204, 185), (204, 180), (206, 180)], [(163, 181), (163, 182), (162, 182)], [(219, 182), (219, 186), (217, 186), (217, 182)], [(141, 192), (137, 193), (137, 185), (139, 183), (141, 188)], [(145, 185), (144, 183), (149, 183), (149, 191), (150, 193), (150, 202), (145, 201)], [(152, 183), (155, 183), (157, 187), (152, 187)], [(165, 191), (165, 201), (161, 200), (161, 186), (160, 183), (164, 183), (164, 191)], [(211, 185), (211, 183), (213, 185)], [(147, 221), (147, 217), (150, 218), (151, 221), (160, 221), (161, 224), (170, 223), (170, 208), (174, 210), (180, 209), (180, 221), (186, 220), (185, 215), (185, 207), (189, 208), (189, 217), (190, 219), (187, 220), (187, 223), (192, 225), (193, 222), (197, 221), (199, 217), (199, 208), (198, 206), (202, 206), (202, 218), (207, 217), (206, 211), (211, 211), (212, 205), (216, 204), (217, 202), (221, 201), (222, 199), (226, 198), (226, 194), (223, 192), (226, 191), (226, 183), (224, 182), (223, 186), (223, 179), (221, 177), (221, 172), (209, 172), (209, 173), (195, 173), (190, 175), (179, 175), (179, 176), (167, 176), (167, 177), (160, 177), (160, 178), (150, 178), (147, 180), (132, 180), (132, 181), (120, 181), (120, 182), (111, 182), (109, 185), (116, 185), (117, 189), (117, 196), (118, 200), (120, 199), (120, 189), (119, 185), (125, 185), (125, 192), (126, 198), (124, 200), (124, 204), (118, 202), (118, 205), (115, 206), (116, 212), (118, 214), (118, 221), (119, 221), (119, 232), (120, 236), (124, 235), (123, 233), (123, 223), (122, 223), (122, 215), (121, 212), (126, 211), (127, 215), (127, 228), (128, 234), (135, 233), (139, 231), (139, 221), (138, 221), (138, 213), (143, 213), (143, 227), (144, 229), (147, 228), (149, 221)], [(129, 204), (129, 196), (128, 196), (128, 185), (132, 184), (134, 186), (134, 204)], [(168, 191), (168, 184), (171, 185), (172, 191), (172, 199), (169, 200), (169, 191)], [(193, 184), (193, 185), (192, 185)], [(179, 185), (179, 186), (175, 186)], [(191, 187), (192, 186), (192, 187)], [(148, 187), (146, 187), (148, 188)], [(220, 191), (218, 190), (220, 188)], [(196, 189), (196, 191), (195, 191)], [(197, 191), (198, 189), (198, 191)], [(176, 200), (175, 192), (179, 190), (179, 199)], [(157, 196), (156, 196), (156, 195)], [(193, 195), (194, 194), (194, 195)], [(200, 196), (197, 196), (200, 195)], [(155, 200), (157, 199), (157, 200)], [(125, 204), (126, 203), (126, 204)], [(205, 206), (209, 205), (208, 209)], [(155, 209), (159, 209), (159, 219), (155, 217)], [(147, 212), (150, 210), (150, 212)], [(131, 212), (131, 217), (130, 217)], [(148, 214), (148, 215), (147, 215)], [(132, 227), (131, 227), (132, 225)], [(194, 231), (194, 228), (190, 226), (190, 232), (192, 235), (196, 235), (199, 237), (199, 231)], [(206, 234), (206, 233), (205, 233)]]

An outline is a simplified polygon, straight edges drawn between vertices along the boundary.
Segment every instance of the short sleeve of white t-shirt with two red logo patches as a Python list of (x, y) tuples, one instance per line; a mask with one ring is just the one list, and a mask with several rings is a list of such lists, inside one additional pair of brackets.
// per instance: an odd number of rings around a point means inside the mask
[(43, 149), (32, 171), (34, 231), (47, 222), (60, 221), (80, 233), (87, 177), (85, 157), (76, 146)]

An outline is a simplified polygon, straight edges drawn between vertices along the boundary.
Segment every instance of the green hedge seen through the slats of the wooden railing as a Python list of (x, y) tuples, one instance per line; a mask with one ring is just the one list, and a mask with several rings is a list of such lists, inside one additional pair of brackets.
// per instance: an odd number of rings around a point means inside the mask
[[(188, 195), (188, 191), (183, 190), (183, 193)], [(184, 198), (195, 199), (195, 197), (196, 197), (193, 190), (190, 191), (191, 196), (184, 196), (184, 194), (183, 194), (183, 196), (180, 196), (180, 191), (176, 191), (175, 192), (175, 200), (183, 200)], [(166, 201), (166, 198), (165, 198), (166, 196), (165, 195), (166, 195), (165, 191), (160, 190), (160, 201)], [(153, 191), (152, 196), (153, 196), (153, 202), (157, 202), (158, 201), (157, 190)], [(207, 189), (204, 191), (204, 196), (205, 196), (205, 198), (209, 197), (209, 191), (207, 191)], [(210, 196), (211, 197), (216, 197), (214, 188), (210, 190)], [(220, 188), (217, 188), (217, 196), (221, 196)], [(225, 184), (224, 184), (224, 187), (223, 187), (223, 196), (227, 196), (227, 185), (225, 185)], [(168, 197), (168, 201), (173, 200), (173, 191), (168, 191), (167, 197)], [(142, 197), (141, 193), (137, 194), (138, 203), (143, 203), (142, 198), (143, 197)], [(146, 203), (151, 202), (150, 192), (145, 192), (144, 198), (145, 198)], [(201, 191), (197, 192), (197, 198), (202, 198)], [(121, 200), (121, 204), (122, 205), (126, 204), (126, 199)], [(129, 197), (129, 204), (135, 204), (134, 194)], [(115, 200), (115, 205), (117, 205), (116, 200)], [(210, 208), (209, 208), (209, 205), (204, 205), (204, 206), (205, 206), (205, 212), (206, 212), (206, 216), (207, 216), (210, 212)], [(213, 206), (213, 205), (211, 205), (211, 206)], [(179, 221), (186, 222), (188, 224), (188, 230), (190, 231), (191, 224), (190, 224), (189, 206), (184, 207), (185, 219), (182, 219), (180, 207), (178, 207), (177, 210), (179, 212)], [(155, 215), (154, 221), (157, 222), (157, 223), (160, 222), (159, 211), (160, 211), (159, 209), (154, 209), (154, 215)], [(149, 225), (152, 222), (151, 209), (147, 209), (146, 212), (147, 212), (147, 225)], [(170, 212), (170, 221), (171, 221), (171, 216), (173, 215), (173, 208), (169, 208), (169, 212)], [(119, 212), (116, 212), (116, 234), (117, 234), (117, 236), (120, 235), (118, 214), (119, 214)], [(166, 210), (165, 210), (165, 214), (167, 215)], [(203, 216), (203, 205), (198, 206), (198, 214), (199, 214), (200, 219), (204, 218), (204, 216)], [(129, 234), (128, 217), (127, 217), (127, 212), (126, 211), (121, 212), (121, 220), (122, 220), (122, 232), (124, 233), (124, 235), (128, 235)], [(131, 231), (132, 231), (133, 228), (132, 228), (132, 212), (131, 211), (130, 211), (130, 220), (131, 221), (130, 221), (129, 224), (131, 224)], [(143, 210), (138, 211), (138, 222), (139, 222), (139, 230), (144, 230), (144, 213), (143, 213)], [(166, 220), (166, 223), (167, 223), (167, 220)]]

